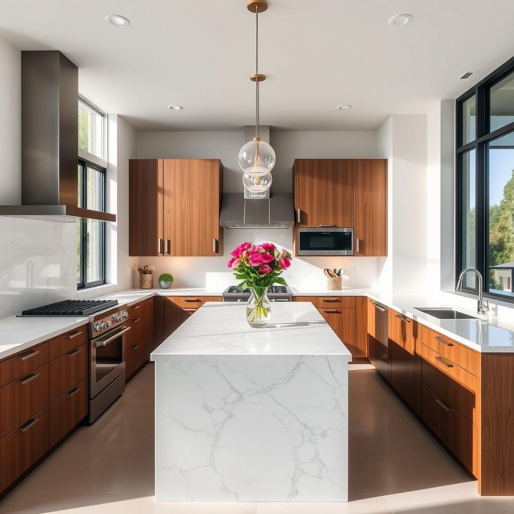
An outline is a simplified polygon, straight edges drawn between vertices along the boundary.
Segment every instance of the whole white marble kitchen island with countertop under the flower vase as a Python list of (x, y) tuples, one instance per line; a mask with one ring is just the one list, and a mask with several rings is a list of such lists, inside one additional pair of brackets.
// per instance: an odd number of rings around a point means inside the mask
[(309, 302), (206, 303), (152, 353), (157, 501), (347, 501), (351, 353)]

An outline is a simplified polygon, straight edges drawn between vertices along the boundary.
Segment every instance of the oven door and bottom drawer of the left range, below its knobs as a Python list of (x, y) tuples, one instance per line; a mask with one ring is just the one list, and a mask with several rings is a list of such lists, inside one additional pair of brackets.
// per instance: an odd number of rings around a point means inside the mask
[(120, 324), (89, 340), (89, 423), (125, 390), (125, 334)]

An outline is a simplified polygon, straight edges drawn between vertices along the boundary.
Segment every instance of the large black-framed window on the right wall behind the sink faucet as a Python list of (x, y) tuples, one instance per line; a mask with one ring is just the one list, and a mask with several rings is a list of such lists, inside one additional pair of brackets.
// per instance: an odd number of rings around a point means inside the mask
[(457, 99), (455, 169), (456, 278), (476, 268), (485, 296), (514, 302), (514, 58)]

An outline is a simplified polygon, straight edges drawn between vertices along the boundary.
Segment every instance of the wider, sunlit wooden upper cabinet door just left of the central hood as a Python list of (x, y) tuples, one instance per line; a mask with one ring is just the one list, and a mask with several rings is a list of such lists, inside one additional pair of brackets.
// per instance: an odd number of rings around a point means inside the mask
[(165, 255), (223, 254), (222, 192), (218, 159), (164, 159)]

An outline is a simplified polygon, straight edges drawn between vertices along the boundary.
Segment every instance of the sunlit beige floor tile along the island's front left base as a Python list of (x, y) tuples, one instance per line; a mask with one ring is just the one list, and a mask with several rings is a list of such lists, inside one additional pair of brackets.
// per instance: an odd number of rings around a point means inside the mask
[(251, 502), (156, 502), (151, 496), (127, 501), (120, 514), (255, 514), (255, 504)]

